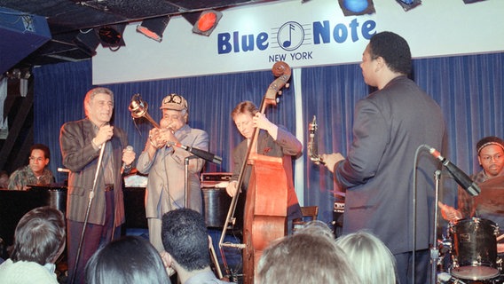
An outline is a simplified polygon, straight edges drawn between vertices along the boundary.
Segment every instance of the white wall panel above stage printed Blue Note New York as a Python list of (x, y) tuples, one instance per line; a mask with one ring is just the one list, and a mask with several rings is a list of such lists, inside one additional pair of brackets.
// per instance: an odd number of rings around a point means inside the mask
[[(369, 36), (384, 30), (404, 36), (415, 58), (504, 51), (502, 0), (423, 0), (408, 12), (395, 0), (374, 0), (374, 8), (372, 15), (344, 17), (336, 0), (249, 4), (224, 10), (210, 36), (193, 34), (189, 22), (173, 17), (161, 43), (137, 33), (138, 23), (131, 23), (123, 35), (126, 46), (98, 47), (93, 83), (266, 70), (279, 60), (290, 67), (354, 63)], [(319, 28), (324, 25), (327, 30)], [(235, 35), (240, 44), (233, 43)], [(243, 36), (254, 39), (248, 51)], [(282, 48), (288, 39), (290, 47)]]

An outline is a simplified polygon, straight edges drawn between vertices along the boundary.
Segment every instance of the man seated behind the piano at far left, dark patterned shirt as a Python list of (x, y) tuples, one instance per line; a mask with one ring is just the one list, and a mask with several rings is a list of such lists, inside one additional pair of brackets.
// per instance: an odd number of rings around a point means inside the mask
[(9, 178), (8, 188), (11, 190), (27, 190), (28, 185), (51, 185), (55, 179), (51, 170), (47, 169), (51, 152), (43, 144), (30, 147), (30, 157), (27, 166), (15, 170)]

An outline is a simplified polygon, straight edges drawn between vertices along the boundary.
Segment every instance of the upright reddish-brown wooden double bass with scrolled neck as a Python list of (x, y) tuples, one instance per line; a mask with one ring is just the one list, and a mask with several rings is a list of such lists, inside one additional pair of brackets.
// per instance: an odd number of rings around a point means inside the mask
[[(288, 87), (288, 80), (291, 69), (285, 62), (276, 62), (272, 67), (275, 79), (268, 90), (259, 107), (259, 112), (264, 114), (268, 106), (277, 105), (277, 95), (281, 94), (281, 89)], [(225, 263), (223, 247), (241, 248), (243, 256), (243, 283), (254, 283), (257, 262), (266, 248), (272, 241), (277, 240), (287, 234), (287, 192), (288, 183), (285, 165), (282, 157), (270, 157), (257, 154), (257, 138), (259, 130), (255, 129), (248, 152), (244, 159), (240, 177), (238, 178), (238, 191), (234, 194), (230, 209), (224, 224), (224, 230), (219, 241), (219, 248)], [(245, 201), (243, 217), (243, 244), (224, 244), (224, 235), (228, 225), (234, 224), (234, 211), (240, 195), (243, 176), (248, 167), (251, 167), (248, 181), (247, 196)], [(226, 267), (227, 270), (227, 267)]]

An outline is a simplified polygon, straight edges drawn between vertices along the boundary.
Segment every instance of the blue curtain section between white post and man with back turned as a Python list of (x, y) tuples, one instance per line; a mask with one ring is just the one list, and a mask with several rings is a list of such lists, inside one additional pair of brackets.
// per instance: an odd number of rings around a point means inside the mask
[[(351, 143), (353, 108), (366, 96), (358, 65), (304, 68), (302, 71), (303, 122), (307, 129), (313, 115), (319, 128), (316, 135), (319, 154), (341, 152), (346, 154)], [(308, 145), (308, 135), (303, 145)], [(319, 218), (331, 220), (335, 200), (343, 201), (335, 187), (332, 173), (325, 166), (310, 161), (308, 150), (304, 152), (304, 204), (319, 205)]]

